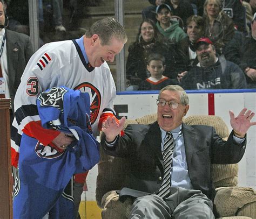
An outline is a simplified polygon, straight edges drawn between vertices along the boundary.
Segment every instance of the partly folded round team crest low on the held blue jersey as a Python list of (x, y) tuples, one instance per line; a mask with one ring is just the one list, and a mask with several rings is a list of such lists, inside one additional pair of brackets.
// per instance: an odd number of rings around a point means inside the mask
[(45, 159), (57, 158), (59, 156), (62, 156), (62, 154), (64, 153), (64, 151), (61, 151), (61, 152), (57, 151), (56, 149), (54, 149), (49, 145), (44, 146), (40, 142), (37, 142), (35, 147), (35, 152), (38, 157), (45, 158)]

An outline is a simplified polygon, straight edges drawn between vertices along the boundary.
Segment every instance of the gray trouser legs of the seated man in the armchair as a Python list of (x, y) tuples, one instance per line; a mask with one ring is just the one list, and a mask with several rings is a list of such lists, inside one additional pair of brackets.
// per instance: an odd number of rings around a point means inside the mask
[(171, 187), (171, 195), (161, 199), (146, 195), (136, 199), (129, 218), (197, 218), (214, 219), (213, 204), (200, 190)]

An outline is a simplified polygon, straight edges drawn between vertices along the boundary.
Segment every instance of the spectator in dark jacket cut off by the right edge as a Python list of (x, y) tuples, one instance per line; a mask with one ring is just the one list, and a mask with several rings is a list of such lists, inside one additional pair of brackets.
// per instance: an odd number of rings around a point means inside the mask
[(240, 67), (244, 70), (248, 88), (256, 88), (256, 13), (251, 23), (251, 33), (245, 39), (241, 50)]

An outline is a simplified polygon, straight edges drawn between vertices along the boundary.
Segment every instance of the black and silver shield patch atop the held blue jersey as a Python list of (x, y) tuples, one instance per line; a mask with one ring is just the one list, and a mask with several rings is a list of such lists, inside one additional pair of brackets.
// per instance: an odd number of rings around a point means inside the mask
[(51, 88), (49, 91), (44, 91), (38, 96), (42, 107), (56, 107), (63, 111), (63, 97), (68, 90), (65, 88)]

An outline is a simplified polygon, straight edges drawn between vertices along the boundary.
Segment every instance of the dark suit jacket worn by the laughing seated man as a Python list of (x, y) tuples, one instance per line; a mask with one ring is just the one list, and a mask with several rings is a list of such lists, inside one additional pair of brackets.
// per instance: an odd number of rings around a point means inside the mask
[[(244, 152), (246, 140), (242, 145), (233, 142), (233, 132), (224, 142), (211, 126), (182, 125), (188, 174), (193, 189), (201, 190), (211, 200), (215, 188), (211, 180), (211, 164), (238, 163)], [(128, 125), (125, 135), (118, 137), (113, 147), (105, 145), (104, 151), (117, 157), (131, 159), (131, 170), (127, 172), (125, 186), (134, 190), (124, 190), (122, 195), (141, 196), (146, 192), (157, 193), (164, 176), (161, 154), (161, 133), (157, 122), (151, 125)]]

